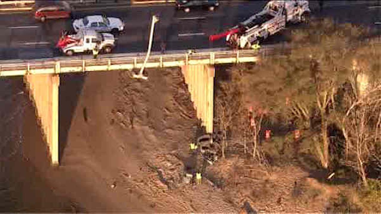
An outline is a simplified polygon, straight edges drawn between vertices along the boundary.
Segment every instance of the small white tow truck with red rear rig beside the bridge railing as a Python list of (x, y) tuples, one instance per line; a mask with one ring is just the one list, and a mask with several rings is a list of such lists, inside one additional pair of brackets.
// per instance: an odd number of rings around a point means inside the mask
[(60, 48), (67, 56), (72, 56), (74, 53), (83, 53), (92, 51), (97, 43), (99, 49), (104, 53), (110, 53), (115, 46), (115, 38), (112, 34), (98, 33), (95, 30), (79, 31), (75, 35), (69, 35), (63, 40), (70, 40), (70, 43), (63, 42)]

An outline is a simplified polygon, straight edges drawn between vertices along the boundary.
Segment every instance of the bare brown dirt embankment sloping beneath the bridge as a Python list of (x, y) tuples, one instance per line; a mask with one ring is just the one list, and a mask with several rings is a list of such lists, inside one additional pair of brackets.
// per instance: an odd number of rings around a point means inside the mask
[(205, 175), (222, 188), (207, 180), (184, 184), (189, 142), (199, 130), (181, 71), (149, 70), (147, 81), (124, 71), (88, 73), (80, 86), (78, 78), (61, 77), (58, 168), (49, 167), (27, 94), (3, 102), (2, 113), (26, 107), (19, 114), (22, 143), (2, 145), (2, 157), (17, 152), (1, 162), (0, 211), (237, 212), (249, 201), (257, 211), (322, 212), (335, 195), (300, 168), (266, 172), (238, 157), (208, 168)]

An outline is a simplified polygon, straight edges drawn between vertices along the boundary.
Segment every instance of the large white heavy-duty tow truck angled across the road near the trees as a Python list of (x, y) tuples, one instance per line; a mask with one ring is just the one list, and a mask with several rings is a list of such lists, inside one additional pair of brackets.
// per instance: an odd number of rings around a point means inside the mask
[(225, 33), (226, 42), (232, 48), (251, 48), (269, 35), (283, 30), (288, 22), (308, 22), (310, 13), (307, 0), (269, 1), (260, 13)]

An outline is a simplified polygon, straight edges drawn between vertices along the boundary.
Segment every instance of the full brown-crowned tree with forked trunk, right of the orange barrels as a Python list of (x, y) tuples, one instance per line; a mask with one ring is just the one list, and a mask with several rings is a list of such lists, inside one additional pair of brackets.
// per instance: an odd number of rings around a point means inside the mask
[(349, 75), (343, 64), (355, 53), (352, 44), (356, 44), (364, 32), (351, 24), (337, 26), (325, 19), (312, 23), (308, 29), (296, 30), (293, 35), (295, 51), (290, 58), (294, 61), (310, 58), (309, 72), (305, 72), (310, 74), (312, 81), (306, 83), (314, 91), (315, 107), (321, 121), (321, 139), (315, 148), (323, 168), (328, 168), (330, 160), (327, 133), (330, 109), (335, 107), (335, 94)]

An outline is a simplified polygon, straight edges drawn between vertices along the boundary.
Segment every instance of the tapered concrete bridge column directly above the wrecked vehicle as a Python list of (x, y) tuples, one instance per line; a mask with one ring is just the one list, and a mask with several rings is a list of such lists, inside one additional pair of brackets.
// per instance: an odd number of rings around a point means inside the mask
[(213, 133), (214, 76), (212, 65), (184, 65), (181, 67), (191, 100), (207, 133)]

